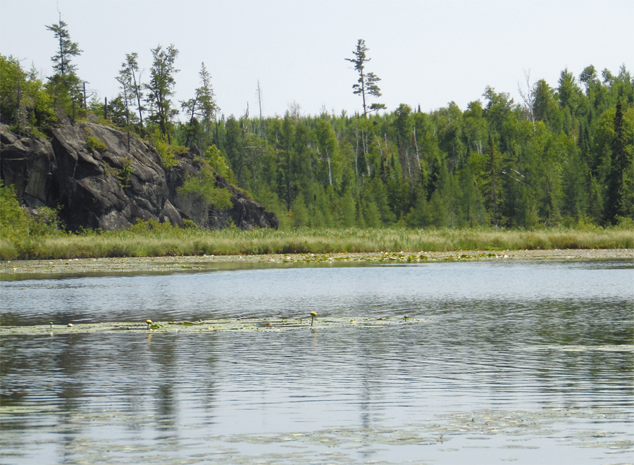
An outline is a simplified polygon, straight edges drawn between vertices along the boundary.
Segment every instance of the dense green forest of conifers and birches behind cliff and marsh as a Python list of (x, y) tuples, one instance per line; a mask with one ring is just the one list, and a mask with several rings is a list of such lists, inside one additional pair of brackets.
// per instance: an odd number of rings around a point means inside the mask
[(225, 116), (205, 63), (187, 70), (200, 77), (192, 97), (174, 100), (173, 45), (151, 50), (146, 82), (138, 54), (126, 54), (113, 70), (120, 94), (91, 99), (66, 26), (47, 27), (57, 44), (52, 77), (0, 57), (3, 123), (35, 136), (61, 118), (116, 125), (154, 144), (166, 169), (189, 150), (201, 173), (223, 174), (277, 213), (282, 228), (530, 229), (634, 218), (634, 78), (625, 66), (616, 74), (588, 66), (578, 76), (565, 69), (556, 85), (527, 75), (518, 102), (486, 87), (464, 110), (451, 102), (429, 113), (407, 104), (388, 111), (366, 102), (380, 97), (380, 79), (366, 72), (359, 40), (342, 63), (359, 73), (352, 90), (363, 113), (304, 116), (295, 104), (283, 116)]

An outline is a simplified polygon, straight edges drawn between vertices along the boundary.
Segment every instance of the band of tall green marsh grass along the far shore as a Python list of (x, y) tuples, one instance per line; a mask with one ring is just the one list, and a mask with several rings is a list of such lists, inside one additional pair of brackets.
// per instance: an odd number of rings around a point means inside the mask
[(118, 256), (288, 254), (328, 252), (444, 252), (518, 249), (631, 249), (634, 231), (549, 229), (451, 230), (405, 228), (220, 230), (136, 228), (85, 235), (0, 240), (0, 259), (75, 259)]

